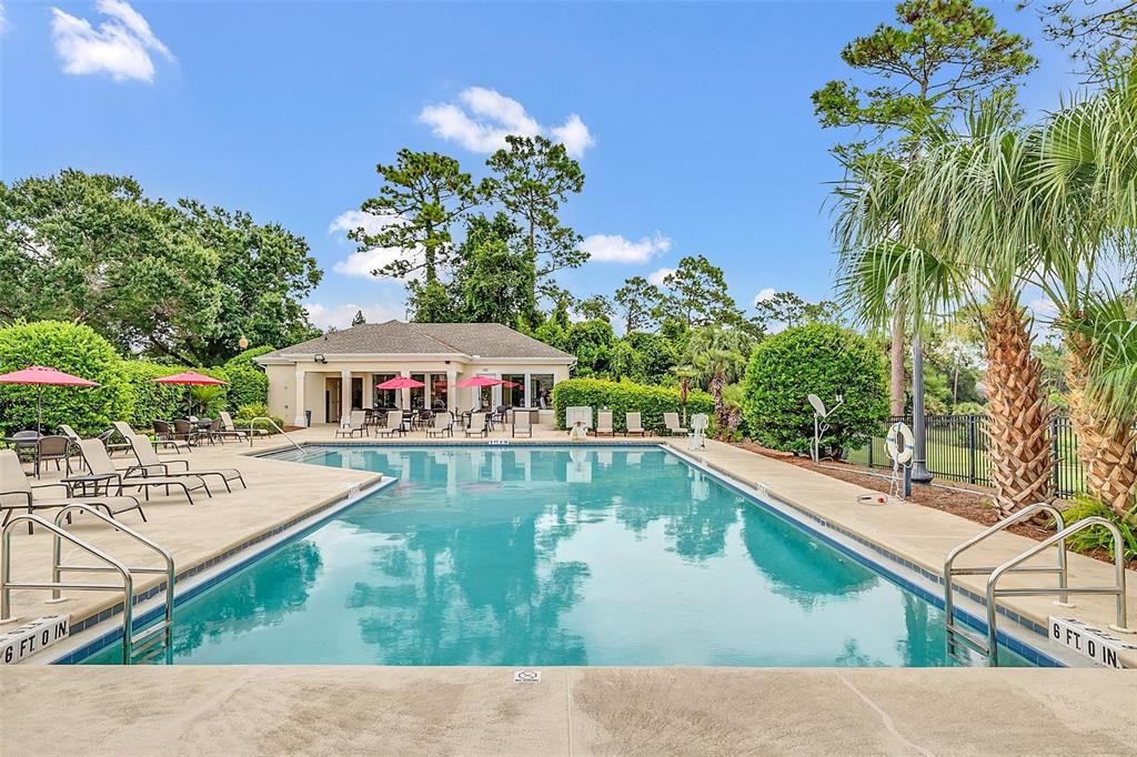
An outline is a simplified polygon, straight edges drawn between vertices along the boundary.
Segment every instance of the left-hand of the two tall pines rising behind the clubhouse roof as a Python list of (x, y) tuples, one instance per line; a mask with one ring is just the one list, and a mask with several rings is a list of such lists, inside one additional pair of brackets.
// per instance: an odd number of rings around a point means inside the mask
[(379, 164), (375, 170), (383, 184), (360, 209), (389, 223), (371, 231), (355, 228), (348, 236), (360, 251), (398, 250), (395, 260), (373, 273), (409, 280), (416, 321), (446, 321), (449, 298), (441, 274), (454, 253), (451, 227), (482, 201), (489, 184), (475, 184), (449, 156), (406, 148), (393, 164)]

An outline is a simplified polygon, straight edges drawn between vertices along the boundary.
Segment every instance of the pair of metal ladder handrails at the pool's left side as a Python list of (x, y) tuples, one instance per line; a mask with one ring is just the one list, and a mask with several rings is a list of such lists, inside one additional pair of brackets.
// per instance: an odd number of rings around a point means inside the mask
[[(105, 550), (80, 539), (67, 531), (64, 526), (64, 518), (70, 517), (74, 513), (92, 515), (106, 525), (126, 534), (134, 541), (146, 546), (156, 552), (164, 563), (163, 567), (134, 567), (111, 557)], [(11, 580), (11, 534), (15, 527), (22, 523), (38, 525), (52, 534), (51, 549), (51, 581), (13, 581)], [(55, 521), (48, 521), (39, 515), (25, 514), (11, 518), (3, 527), (2, 536), (3, 556), (0, 559), (0, 624), (11, 623), (11, 590), (50, 590), (51, 599), (49, 604), (66, 601), (61, 594), (65, 589), (75, 591), (115, 591), (123, 594), (123, 665), (148, 662), (156, 658), (165, 650), (166, 659), (169, 662), (173, 647), (171, 644), (172, 631), (174, 627), (174, 558), (171, 554), (147, 539), (139, 532), (130, 529), (118, 521), (86, 505), (68, 505), (56, 514)], [(81, 551), (94, 557), (101, 565), (65, 565), (63, 563), (63, 542), (66, 541)], [(64, 581), (63, 574), (67, 573), (117, 573), (122, 577), (122, 583), (83, 583), (78, 581)], [(160, 574), (166, 576), (166, 606), (165, 617), (160, 622), (148, 629), (134, 633), (134, 575), (135, 574)], [(158, 642), (163, 642), (159, 644)]]

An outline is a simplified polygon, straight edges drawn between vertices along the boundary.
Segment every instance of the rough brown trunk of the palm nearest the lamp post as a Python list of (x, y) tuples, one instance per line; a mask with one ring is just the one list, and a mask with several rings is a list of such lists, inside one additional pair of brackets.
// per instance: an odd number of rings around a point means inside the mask
[(991, 483), (999, 511), (1010, 515), (1053, 496), (1049, 409), (1023, 309), (1013, 298), (993, 298), (985, 322)]

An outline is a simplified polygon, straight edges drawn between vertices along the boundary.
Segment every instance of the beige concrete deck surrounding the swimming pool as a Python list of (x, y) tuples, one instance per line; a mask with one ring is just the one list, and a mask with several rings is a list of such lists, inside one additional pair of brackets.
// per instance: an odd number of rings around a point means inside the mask
[[(332, 442), (333, 432), (323, 426), (293, 435)], [(255, 450), (277, 441), (257, 442)], [(533, 441), (564, 442), (565, 434), (539, 430)], [(690, 454), (684, 440), (650, 441)], [(415, 434), (385, 443), (428, 442)], [(176, 456), (198, 468), (239, 467), (248, 490), (196, 497), (193, 506), (177, 496), (155, 497), (147, 507), (149, 523), (141, 524), (136, 514), (124, 515), (124, 522), (169, 548), (181, 572), (376, 480), (248, 452), (247, 444), (230, 443)], [(931, 572), (941, 568), (949, 548), (981, 530), (914, 505), (858, 505), (865, 490), (854, 484), (727, 444), (708, 441), (696, 455)], [(125, 465), (125, 458), (116, 459)], [(136, 544), (106, 529), (80, 522), (74, 531), (126, 561), (146, 559)], [(45, 579), (49, 536), (20, 529), (14, 542), (15, 575)], [(999, 534), (972, 559), (997, 564), (1030, 543)], [(1077, 555), (1070, 566), (1072, 585), (1101, 585), (1111, 576), (1110, 566)], [(1130, 607), (1137, 608), (1137, 575), (1127, 577)], [(1019, 580), (1012, 576), (1007, 585)], [(980, 587), (972, 579), (964, 584)], [(23, 619), (59, 613), (77, 619), (115, 601), (109, 593), (68, 593), (69, 601), (47, 605), (43, 592), (17, 591), (14, 609)], [(1055, 608), (1046, 597), (1006, 605), (1041, 623), (1051, 614), (1112, 622), (1109, 599), (1076, 601), (1073, 610)], [(1137, 755), (1135, 672), (546, 668), (543, 674), (539, 684), (515, 684), (512, 672), (500, 668), (20, 665), (0, 671), (0, 754)]]

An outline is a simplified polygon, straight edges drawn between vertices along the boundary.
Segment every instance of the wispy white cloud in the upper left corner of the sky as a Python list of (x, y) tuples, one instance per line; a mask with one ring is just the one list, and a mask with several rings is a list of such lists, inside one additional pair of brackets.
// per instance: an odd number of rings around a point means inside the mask
[(63, 59), (64, 73), (84, 75), (105, 72), (117, 82), (153, 81), (155, 52), (174, 60), (150, 24), (125, 0), (98, 0), (96, 9), (106, 20), (96, 28), (85, 18), (52, 8), (51, 35)]

